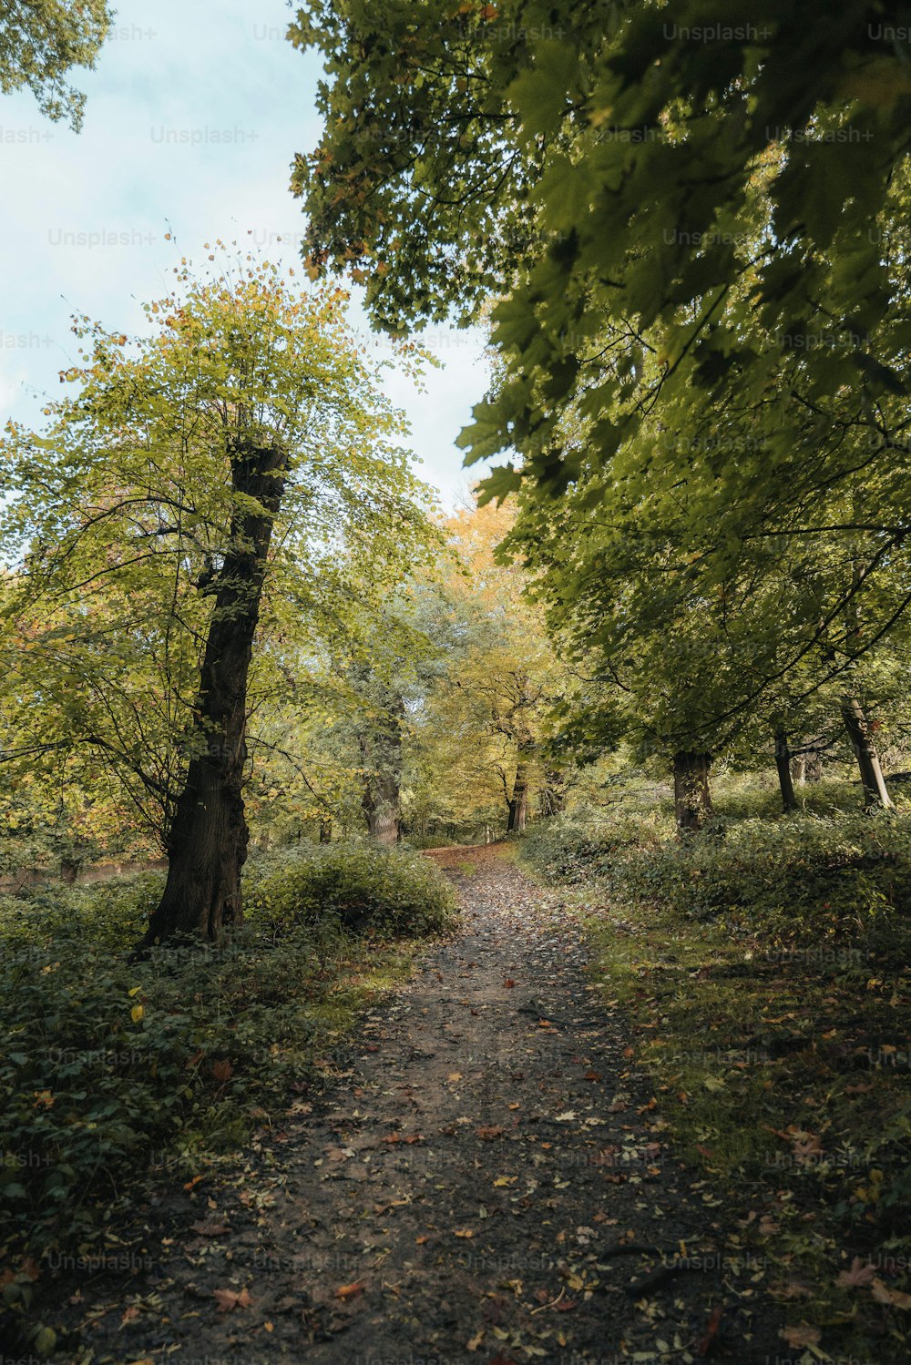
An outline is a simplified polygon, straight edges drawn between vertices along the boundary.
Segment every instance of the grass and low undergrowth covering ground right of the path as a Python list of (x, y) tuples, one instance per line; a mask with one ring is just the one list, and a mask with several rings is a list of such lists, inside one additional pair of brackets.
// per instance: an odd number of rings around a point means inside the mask
[(740, 801), (725, 837), (698, 846), (668, 837), (667, 812), (627, 809), (613, 830), (589, 820), (585, 848), (576, 820), (561, 849), (557, 830), (526, 853), (552, 879), (568, 871), (593, 980), (628, 1014), (677, 1149), (810, 1332), (794, 1358), (906, 1360), (907, 816), (776, 822)]

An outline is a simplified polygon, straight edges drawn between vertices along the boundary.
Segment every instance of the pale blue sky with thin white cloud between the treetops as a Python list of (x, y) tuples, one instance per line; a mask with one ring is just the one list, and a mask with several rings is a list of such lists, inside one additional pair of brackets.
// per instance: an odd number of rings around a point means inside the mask
[[(148, 333), (143, 300), (171, 288), (182, 255), (205, 263), (216, 238), (298, 263), (290, 165), (320, 136), (321, 66), (285, 40), (290, 18), (283, 0), (122, 0), (96, 70), (72, 72), (87, 96), (81, 132), (46, 120), (30, 91), (0, 97), (0, 426), (41, 425), (76, 362), (72, 313)], [(351, 322), (369, 334), (356, 296)], [(452, 506), (477, 476), (455, 438), (488, 367), (477, 332), (423, 340), (443, 362), (426, 392), (389, 371), (384, 388), (410, 419), (418, 472)]]

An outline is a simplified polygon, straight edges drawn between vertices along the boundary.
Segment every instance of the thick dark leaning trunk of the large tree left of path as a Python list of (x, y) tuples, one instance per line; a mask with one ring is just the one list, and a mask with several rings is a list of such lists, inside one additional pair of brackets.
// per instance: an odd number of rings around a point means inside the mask
[(240, 870), (247, 857), (242, 777), (247, 758), (247, 674), (260, 620), (275, 515), (284, 491), (285, 453), (238, 441), (229, 452), (238, 505), (228, 549), (212, 575), (214, 609), (194, 706), (194, 748), (168, 835), (168, 879), (149, 928), (148, 949), (176, 935), (208, 940), (239, 924)]

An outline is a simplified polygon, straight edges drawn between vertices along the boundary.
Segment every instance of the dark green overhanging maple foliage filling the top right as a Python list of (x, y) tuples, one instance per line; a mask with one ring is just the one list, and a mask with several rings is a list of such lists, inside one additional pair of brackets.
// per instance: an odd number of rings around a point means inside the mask
[[(563, 400), (585, 401), (605, 464), (667, 385), (774, 386), (795, 337), (836, 339), (807, 356), (826, 393), (875, 394), (896, 382), (871, 332), (891, 302), (881, 216), (911, 101), (903, 53), (877, 33), (900, 15), (672, 0), (605, 23), (571, 0), (311, 0), (290, 34), (331, 76), (322, 141), (294, 173), (311, 268), (361, 272), (393, 332), (505, 295), (504, 382), (467, 438), (474, 457), (522, 453), (497, 489), (575, 476)], [(720, 325), (725, 306), (736, 318)], [(736, 326), (757, 308), (774, 345)], [(608, 322), (616, 367), (593, 364)]]

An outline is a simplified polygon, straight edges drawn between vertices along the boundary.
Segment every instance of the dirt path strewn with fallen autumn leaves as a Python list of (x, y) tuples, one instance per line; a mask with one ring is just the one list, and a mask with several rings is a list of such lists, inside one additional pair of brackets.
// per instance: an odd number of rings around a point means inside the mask
[(326, 1092), (152, 1213), (116, 1308), (96, 1280), (96, 1362), (779, 1358), (578, 930), (494, 852), (449, 861), (468, 859), (464, 934), (367, 1016)]

